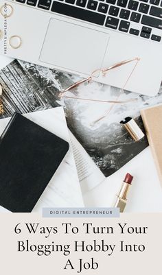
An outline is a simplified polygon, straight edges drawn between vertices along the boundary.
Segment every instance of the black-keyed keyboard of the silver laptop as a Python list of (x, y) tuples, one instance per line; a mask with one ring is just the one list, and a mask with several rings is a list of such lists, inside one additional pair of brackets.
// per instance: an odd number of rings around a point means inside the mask
[(159, 32), (156, 33), (156, 29), (162, 30), (162, 0), (16, 1), (89, 23), (103, 25), (133, 36), (161, 41), (161, 36)]

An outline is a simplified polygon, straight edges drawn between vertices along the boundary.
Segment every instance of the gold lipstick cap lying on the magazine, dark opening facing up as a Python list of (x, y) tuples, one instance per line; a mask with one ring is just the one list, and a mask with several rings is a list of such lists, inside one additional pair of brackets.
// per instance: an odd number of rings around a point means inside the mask
[(145, 136), (145, 134), (143, 134), (142, 130), (139, 128), (139, 125), (137, 125), (132, 117), (126, 117), (126, 119), (120, 121), (120, 123), (124, 125), (134, 141), (140, 141), (140, 139), (143, 139), (143, 137)]

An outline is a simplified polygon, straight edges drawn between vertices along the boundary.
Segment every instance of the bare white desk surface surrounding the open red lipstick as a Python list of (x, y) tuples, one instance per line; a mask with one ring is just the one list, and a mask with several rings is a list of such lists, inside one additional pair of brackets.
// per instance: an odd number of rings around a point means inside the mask
[[(0, 69), (10, 61), (10, 58), (0, 57)], [(162, 182), (159, 181), (150, 147), (130, 160), (115, 174), (106, 178), (95, 189), (86, 193), (85, 206), (112, 206), (115, 194), (118, 193), (126, 173), (134, 176), (126, 212), (161, 212)]]

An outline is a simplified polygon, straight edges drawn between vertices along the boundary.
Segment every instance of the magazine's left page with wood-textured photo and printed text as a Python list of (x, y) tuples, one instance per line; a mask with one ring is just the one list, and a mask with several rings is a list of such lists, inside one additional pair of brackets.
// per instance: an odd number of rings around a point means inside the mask
[[(56, 75), (46, 68), (40, 67), (40, 69), (42, 73), (34, 64), (14, 60), (1, 70), (0, 84), (3, 86), (3, 105), (5, 106), (5, 112), (1, 118), (11, 116), (15, 110), (27, 113), (61, 106), (62, 103), (58, 97), (60, 84)], [(65, 80), (67, 77), (65, 75)], [(74, 157), (79, 165), (77, 167), (82, 192), (85, 193), (100, 184), (104, 180), (104, 175), (74, 136), (71, 141)]]

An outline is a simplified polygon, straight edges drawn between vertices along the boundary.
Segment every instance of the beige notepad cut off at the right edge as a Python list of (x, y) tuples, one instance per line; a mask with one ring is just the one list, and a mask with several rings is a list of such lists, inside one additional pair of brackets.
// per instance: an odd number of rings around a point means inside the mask
[(141, 117), (162, 184), (162, 104), (141, 110)]

